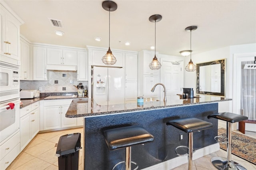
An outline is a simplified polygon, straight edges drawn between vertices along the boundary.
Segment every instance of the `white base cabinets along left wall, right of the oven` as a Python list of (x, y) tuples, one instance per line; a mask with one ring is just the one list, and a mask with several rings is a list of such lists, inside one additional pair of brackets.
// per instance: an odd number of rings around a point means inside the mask
[(39, 132), (39, 101), (20, 109), (20, 152)]

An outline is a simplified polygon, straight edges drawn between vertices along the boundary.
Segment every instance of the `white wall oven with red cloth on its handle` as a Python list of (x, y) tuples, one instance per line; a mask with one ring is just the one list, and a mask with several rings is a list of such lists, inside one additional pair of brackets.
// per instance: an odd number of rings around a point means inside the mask
[[(10, 108), (8, 105), (12, 103), (14, 104), (14, 108)], [(0, 121), (1, 143), (20, 128), (20, 98), (0, 103)]]

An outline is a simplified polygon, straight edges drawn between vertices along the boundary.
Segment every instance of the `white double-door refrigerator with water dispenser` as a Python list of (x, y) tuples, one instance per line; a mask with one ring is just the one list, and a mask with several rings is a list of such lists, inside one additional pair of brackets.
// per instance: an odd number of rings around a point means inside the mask
[(98, 105), (124, 103), (124, 77), (124, 68), (93, 66), (92, 98)]

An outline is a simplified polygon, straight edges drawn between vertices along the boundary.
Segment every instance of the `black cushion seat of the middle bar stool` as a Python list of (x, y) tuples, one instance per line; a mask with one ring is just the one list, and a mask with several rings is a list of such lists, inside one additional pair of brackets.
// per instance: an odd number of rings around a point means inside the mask
[(212, 128), (212, 123), (197, 118), (181, 118), (168, 121), (166, 125), (172, 125), (186, 133)]

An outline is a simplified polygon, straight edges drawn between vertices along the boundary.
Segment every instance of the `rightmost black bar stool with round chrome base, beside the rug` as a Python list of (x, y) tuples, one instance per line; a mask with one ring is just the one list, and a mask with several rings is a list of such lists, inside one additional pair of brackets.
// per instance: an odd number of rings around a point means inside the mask
[[(229, 113), (229, 112), (223, 112), (223, 113), (216, 113), (208, 116), (208, 119), (210, 118), (216, 118), (220, 119), (222, 121), (227, 122), (227, 159), (221, 158), (221, 157), (213, 157), (211, 159), (212, 164), (218, 169), (218, 170), (246, 170), (242, 165), (238, 164), (237, 162), (234, 162), (231, 160), (231, 125), (232, 123), (235, 122), (240, 122), (247, 120), (248, 117), (242, 116), (242, 115), (237, 115), (234, 113)], [(218, 138), (219, 136), (215, 136)], [(218, 140), (216, 140), (218, 142)]]

